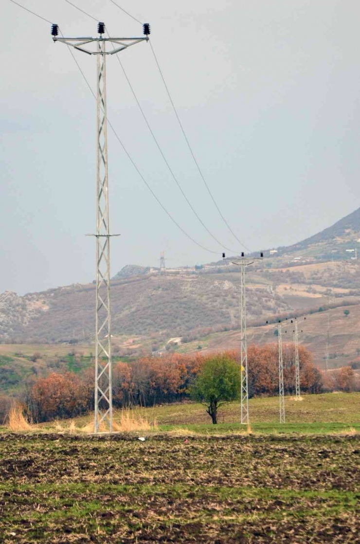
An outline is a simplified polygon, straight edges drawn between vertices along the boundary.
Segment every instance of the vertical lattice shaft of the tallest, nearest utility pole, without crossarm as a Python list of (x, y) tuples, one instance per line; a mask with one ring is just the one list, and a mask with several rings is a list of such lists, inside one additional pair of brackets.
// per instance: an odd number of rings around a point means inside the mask
[(97, 42), (96, 323), (94, 431), (113, 430), (105, 42)]

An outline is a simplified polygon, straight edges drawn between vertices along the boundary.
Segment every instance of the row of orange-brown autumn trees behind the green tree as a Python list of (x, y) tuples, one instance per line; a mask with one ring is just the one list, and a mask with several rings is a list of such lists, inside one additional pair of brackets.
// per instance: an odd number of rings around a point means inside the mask
[[(239, 351), (226, 351), (227, 359), (240, 364)], [(213, 358), (201, 354), (167, 354), (142, 357), (131, 363), (119, 362), (113, 368), (113, 401), (116, 407), (151, 406), (172, 403), (190, 397), (190, 389), (204, 364)], [(319, 393), (322, 378), (312, 363), (311, 354), (299, 348), (301, 390)], [(295, 389), (294, 347), (283, 347), (285, 392)], [(277, 345), (248, 348), (249, 394), (275, 395), (278, 392)], [(83, 374), (53, 372), (37, 378), (26, 388), (24, 403), (34, 421), (76, 417), (94, 409), (94, 370)]]

